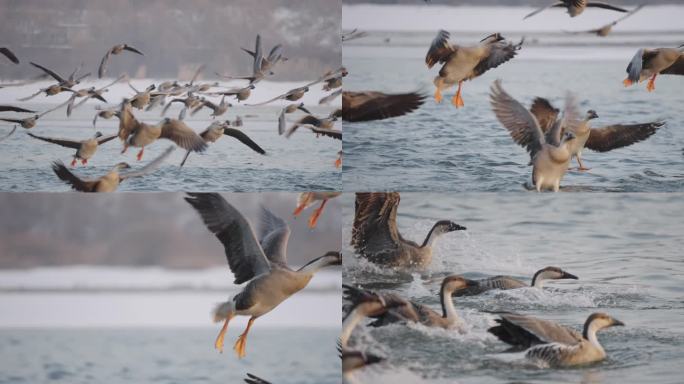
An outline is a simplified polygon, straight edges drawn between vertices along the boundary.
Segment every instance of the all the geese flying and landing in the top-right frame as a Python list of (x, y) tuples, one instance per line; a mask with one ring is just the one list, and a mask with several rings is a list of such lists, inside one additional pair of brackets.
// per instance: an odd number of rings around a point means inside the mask
[[(643, 8), (643, 6), (638, 6), (628, 11), (600, 2), (565, 0), (540, 8), (525, 18), (550, 7), (564, 7), (571, 17), (581, 14), (587, 7), (626, 13), (619, 20), (601, 28), (586, 31), (599, 36), (607, 35), (617, 22)], [(343, 36), (343, 41), (365, 36), (367, 33), (353, 30)], [(486, 36), (478, 44), (471, 46), (452, 42), (450, 37), (447, 31), (437, 32), (437, 36), (428, 48), (425, 64), (428, 69), (437, 64), (441, 65), (433, 80), (435, 101), (441, 102), (442, 93), (445, 90), (457, 87), (451, 99), (451, 103), (456, 108), (465, 105), (462, 97), (464, 82), (474, 80), (485, 72), (512, 60), (523, 48), (524, 43), (524, 39), (517, 43), (509, 42), (499, 33)], [(677, 48), (639, 49), (630, 60), (626, 72), (627, 78), (623, 82), (625, 86), (648, 80), (646, 89), (652, 92), (655, 90), (655, 79), (658, 75), (684, 75), (684, 44)], [(349, 94), (349, 100), (345, 98), (346, 94)], [(345, 91), (342, 100), (343, 119), (368, 121), (399, 116), (419, 108), (423, 103), (421, 97), (418, 93), (387, 95), (376, 92)], [(623, 148), (646, 140), (665, 124), (664, 121), (651, 121), (594, 128), (591, 126), (591, 120), (598, 117), (597, 112), (589, 110), (586, 114), (580, 113), (577, 101), (572, 94), (566, 95), (562, 113), (543, 97), (535, 98), (528, 110), (504, 91), (500, 80), (496, 80), (491, 86), (490, 102), (498, 121), (510, 133), (513, 140), (530, 154), (532, 185), (528, 189), (537, 191), (557, 192), (573, 158), (577, 159), (578, 171), (589, 170), (590, 168), (582, 162), (582, 152), (585, 148), (597, 152)], [(378, 113), (373, 115), (373, 112)], [(367, 118), (367, 116), (372, 116), (372, 118)]]

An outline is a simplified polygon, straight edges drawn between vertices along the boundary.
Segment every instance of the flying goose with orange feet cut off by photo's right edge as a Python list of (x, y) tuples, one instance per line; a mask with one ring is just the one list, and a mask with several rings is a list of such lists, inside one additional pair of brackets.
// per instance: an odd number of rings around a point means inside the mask
[(646, 79), (646, 90), (655, 90), (655, 78), (661, 75), (684, 75), (684, 44), (678, 48), (639, 48), (627, 65), (625, 87)]

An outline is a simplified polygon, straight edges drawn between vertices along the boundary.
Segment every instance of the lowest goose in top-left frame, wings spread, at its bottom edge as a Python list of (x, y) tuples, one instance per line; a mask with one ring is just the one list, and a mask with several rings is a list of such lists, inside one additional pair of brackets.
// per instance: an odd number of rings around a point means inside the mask
[(121, 171), (130, 169), (131, 166), (127, 163), (118, 163), (112, 168), (111, 171), (109, 171), (109, 173), (97, 179), (81, 179), (80, 177), (71, 173), (71, 171), (69, 171), (69, 169), (64, 166), (61, 161), (53, 162), (52, 170), (60, 180), (69, 184), (73, 190), (79, 192), (114, 192), (122, 181), (133, 177), (145, 176), (159, 168), (161, 163), (164, 162), (164, 159), (166, 159), (171, 152), (173, 152), (173, 150), (173, 146), (167, 148), (161, 155), (159, 155), (159, 157), (152, 160), (150, 163), (137, 171), (122, 173)]

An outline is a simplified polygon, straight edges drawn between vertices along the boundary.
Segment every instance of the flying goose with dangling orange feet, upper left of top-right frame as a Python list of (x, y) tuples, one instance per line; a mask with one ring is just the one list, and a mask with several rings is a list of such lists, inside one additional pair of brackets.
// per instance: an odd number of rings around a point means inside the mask
[(507, 42), (499, 33), (494, 33), (480, 40), (476, 46), (460, 46), (449, 43), (449, 32), (440, 30), (432, 40), (425, 57), (425, 64), (432, 68), (435, 64), (443, 64), (439, 75), (435, 77), (435, 101), (442, 101), (442, 90), (458, 83), (458, 90), (452, 99), (456, 108), (463, 107), (461, 87), (466, 80), (474, 79), (492, 68), (511, 60), (522, 47)]

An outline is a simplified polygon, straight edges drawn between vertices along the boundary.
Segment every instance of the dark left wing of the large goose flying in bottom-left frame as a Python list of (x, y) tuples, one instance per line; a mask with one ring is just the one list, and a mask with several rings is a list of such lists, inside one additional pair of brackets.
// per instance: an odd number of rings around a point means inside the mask
[(190, 203), (226, 251), (235, 284), (268, 273), (271, 266), (247, 219), (218, 193), (188, 193)]

